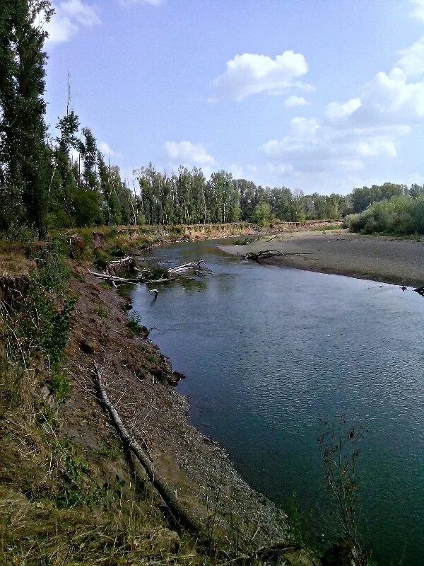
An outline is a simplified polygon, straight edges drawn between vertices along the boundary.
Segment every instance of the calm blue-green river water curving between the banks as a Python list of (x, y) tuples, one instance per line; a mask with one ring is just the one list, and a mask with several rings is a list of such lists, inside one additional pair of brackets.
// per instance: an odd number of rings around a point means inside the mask
[[(222, 243), (222, 242), (221, 242)], [(214, 275), (144, 286), (134, 311), (187, 375), (191, 420), (252, 487), (334, 540), (317, 437), (344, 415), (368, 429), (358, 459), (363, 536), (379, 566), (424, 565), (424, 299), (389, 284), (242, 262), (219, 242), (155, 251)], [(158, 287), (156, 285), (155, 287)]]

